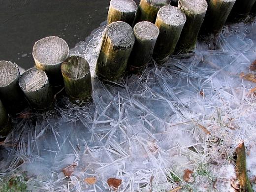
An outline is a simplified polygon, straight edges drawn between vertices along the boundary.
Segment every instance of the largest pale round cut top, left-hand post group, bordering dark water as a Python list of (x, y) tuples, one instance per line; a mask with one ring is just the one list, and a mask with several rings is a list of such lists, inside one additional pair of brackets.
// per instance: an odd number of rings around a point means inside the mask
[(32, 52), (34, 60), (46, 65), (60, 64), (68, 57), (68, 54), (67, 43), (56, 36), (49, 36), (36, 41)]

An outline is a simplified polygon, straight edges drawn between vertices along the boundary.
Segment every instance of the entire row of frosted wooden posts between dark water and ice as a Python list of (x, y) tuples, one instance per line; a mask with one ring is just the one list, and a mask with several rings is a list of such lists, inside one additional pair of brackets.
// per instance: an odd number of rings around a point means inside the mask
[[(232, 18), (245, 17), (255, 1), (172, 0), (170, 5), (169, 0), (141, 0), (137, 7), (133, 0), (111, 0), (96, 76), (117, 80), (127, 70), (143, 70), (152, 57), (163, 63), (174, 52), (190, 51), (200, 29), (218, 33), (230, 11)], [(64, 84), (73, 103), (92, 99), (90, 66), (82, 57), (69, 56), (64, 39), (40, 39), (32, 55), (35, 67), (22, 75), (16, 64), (0, 61), (0, 138), (10, 127), (8, 113), (21, 111), (27, 102), (33, 109), (50, 108), (56, 86)]]

